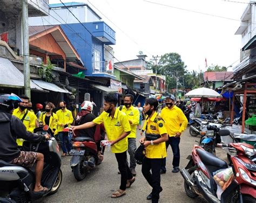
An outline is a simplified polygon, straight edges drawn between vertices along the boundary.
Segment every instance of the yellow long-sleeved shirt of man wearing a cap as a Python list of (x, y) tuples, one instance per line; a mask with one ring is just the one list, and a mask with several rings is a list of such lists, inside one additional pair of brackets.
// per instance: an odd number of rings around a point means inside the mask
[(161, 117), (165, 121), (165, 127), (168, 131), (169, 137), (173, 137), (177, 132), (183, 132), (187, 127), (187, 118), (183, 111), (174, 106), (169, 109), (165, 107), (161, 110)]

